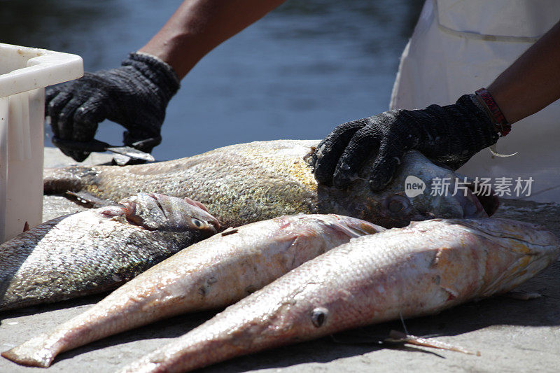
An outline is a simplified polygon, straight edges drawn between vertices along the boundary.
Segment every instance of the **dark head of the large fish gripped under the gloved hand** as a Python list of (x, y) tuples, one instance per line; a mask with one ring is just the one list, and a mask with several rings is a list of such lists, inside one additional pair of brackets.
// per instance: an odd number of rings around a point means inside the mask
[[(377, 192), (367, 179), (373, 160), (366, 162), (349, 188), (318, 185), (320, 203), (330, 209), (384, 227), (405, 227), (433, 218), (483, 218), (498, 208), (498, 198), (475, 193), (472, 181), (433, 164), (421, 153), (406, 153), (391, 182)], [(492, 194), (492, 193), (491, 193)]]

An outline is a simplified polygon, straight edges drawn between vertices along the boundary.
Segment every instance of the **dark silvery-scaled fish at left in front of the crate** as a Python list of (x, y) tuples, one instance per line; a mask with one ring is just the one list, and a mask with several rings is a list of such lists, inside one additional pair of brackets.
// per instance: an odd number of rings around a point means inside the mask
[(117, 288), (218, 229), (200, 202), (158, 193), (48, 220), (0, 246), (0, 311)]

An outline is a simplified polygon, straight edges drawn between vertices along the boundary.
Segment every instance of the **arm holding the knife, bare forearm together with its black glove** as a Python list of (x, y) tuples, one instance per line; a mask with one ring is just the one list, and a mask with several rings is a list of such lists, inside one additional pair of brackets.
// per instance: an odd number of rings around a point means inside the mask
[(46, 114), (57, 146), (78, 162), (85, 160), (98, 123), (109, 119), (127, 129), (127, 146), (151, 152), (179, 80), (216, 45), (283, 1), (184, 0), (140, 53), (130, 53), (120, 67), (85, 73), (48, 90)]

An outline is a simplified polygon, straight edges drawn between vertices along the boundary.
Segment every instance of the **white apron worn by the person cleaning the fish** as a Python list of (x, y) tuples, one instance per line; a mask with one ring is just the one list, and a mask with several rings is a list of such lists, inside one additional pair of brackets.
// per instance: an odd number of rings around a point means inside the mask
[[(426, 0), (402, 52), (391, 108), (453, 104), (488, 87), (559, 20), (558, 0)], [(484, 149), (459, 171), (501, 184), (501, 197), (560, 202), (559, 101), (498, 140), (499, 153), (517, 155), (496, 157)], [(516, 180), (531, 191), (515, 190)]]

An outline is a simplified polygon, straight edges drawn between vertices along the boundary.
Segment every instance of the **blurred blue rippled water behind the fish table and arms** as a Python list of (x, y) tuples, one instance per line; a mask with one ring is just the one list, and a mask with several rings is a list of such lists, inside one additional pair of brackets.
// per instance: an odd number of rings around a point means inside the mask
[[(179, 3), (0, 0), (0, 41), (76, 53), (87, 71), (109, 69), (144, 45)], [(183, 79), (155, 157), (255, 140), (320, 139), (340, 122), (386, 110), (422, 3), (287, 1)], [(103, 122), (97, 137), (116, 144), (121, 132)]]

